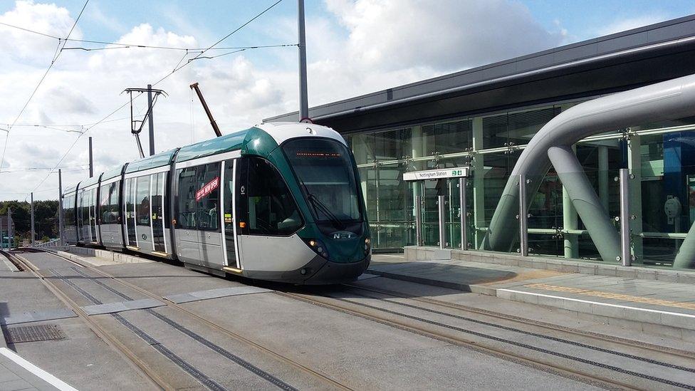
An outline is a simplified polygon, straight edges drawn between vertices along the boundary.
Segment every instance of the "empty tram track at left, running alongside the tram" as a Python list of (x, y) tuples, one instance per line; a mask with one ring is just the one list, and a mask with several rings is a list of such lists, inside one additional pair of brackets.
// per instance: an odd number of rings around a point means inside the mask
[[(306, 367), (305, 365), (302, 365), (301, 363), (298, 363), (295, 360), (292, 360), (291, 358), (287, 358), (286, 356), (281, 355), (280, 353), (276, 353), (273, 350), (266, 348), (263, 345), (260, 345), (252, 340), (249, 340), (248, 338), (244, 338), (243, 336), (241, 336), (237, 333), (234, 333), (231, 330), (223, 328), (220, 325), (217, 325), (216, 323), (213, 323), (210, 320), (207, 320), (206, 318), (199, 316), (197, 313), (189, 311), (187, 308), (184, 308), (184, 307), (180, 306), (179, 304), (172, 303), (169, 301), (162, 301), (162, 298), (160, 296), (158, 296), (157, 294), (152, 293), (150, 291), (147, 291), (146, 289), (141, 288), (140, 286), (136, 286), (128, 281), (125, 281), (122, 278), (118, 278), (116, 276), (113, 276), (110, 273), (107, 273), (105, 271), (101, 271), (100, 269), (97, 269), (97, 268), (90, 266), (88, 264), (82, 264), (78, 261), (68, 259), (64, 256), (61, 256), (60, 254), (54, 253), (53, 251), (46, 251), (46, 250), (38, 250), (38, 251), (40, 251), (44, 254), (50, 254), (51, 256), (55, 256), (56, 258), (61, 259), (61, 261), (66, 261), (66, 262), (69, 262), (70, 264), (78, 266), (79, 269), (77, 267), (71, 267), (70, 270), (77, 273), (80, 276), (80, 278), (84, 278), (85, 280), (88, 280), (91, 283), (94, 283), (95, 285), (100, 286), (100, 288), (103, 288), (105, 291), (108, 291), (108, 292), (112, 293), (113, 295), (118, 296), (119, 298), (122, 298), (126, 301), (132, 300), (132, 298), (130, 296), (127, 296), (125, 293), (122, 293), (122, 292), (118, 291), (117, 289), (115, 289), (111, 286), (108, 286), (107, 284), (105, 284), (103, 281), (100, 281), (100, 280), (103, 278), (106, 278), (110, 281), (115, 281), (116, 283), (119, 283), (121, 286), (125, 286), (127, 288), (130, 288), (133, 291), (137, 291), (138, 293), (142, 294), (143, 296), (147, 296), (148, 298), (152, 298), (152, 299), (155, 299), (157, 301), (160, 301), (164, 304), (164, 306), (166, 306), (168, 308), (172, 308), (177, 313), (180, 313), (180, 314), (183, 314), (185, 316), (188, 316), (189, 318), (192, 318), (197, 323), (201, 323), (202, 325), (205, 325), (213, 330), (216, 330), (216, 331), (226, 335), (227, 337), (233, 338), (234, 340), (236, 340), (240, 343), (244, 343), (245, 345), (258, 350), (263, 354), (269, 355), (274, 360), (278, 360), (281, 363), (284, 363), (290, 367), (295, 368), (296, 370), (299, 370), (307, 375), (310, 375), (311, 377), (314, 377), (315, 379), (322, 382), (326, 387), (330, 387), (331, 389), (335, 389), (335, 390), (351, 390), (350, 387), (347, 387), (347, 386), (341, 384), (340, 382), (331, 379), (327, 375), (324, 375), (321, 372), (313, 370), (310, 367)], [(31, 262), (29, 262), (27, 259), (23, 259), (23, 257), (19, 257), (19, 256), (17, 258), (20, 259), (21, 263), (25, 264), (26, 267), (28, 267), (30, 269), (33, 268), (33, 266), (31, 265)], [(44, 283), (46, 283), (47, 278), (41, 276), (41, 274), (36, 272), (34, 269), (32, 269), (34, 271), (34, 273), (39, 278), (41, 278), (41, 280), (44, 281)], [(98, 276), (96, 276), (96, 277), (90, 276), (88, 273), (85, 273), (83, 270), (90, 271), (92, 273), (97, 274)], [(98, 299), (94, 298), (93, 296), (90, 298), (89, 296), (91, 296), (91, 295), (89, 293), (85, 292), (83, 289), (79, 288), (78, 286), (75, 286), (75, 284), (72, 283), (72, 281), (70, 281), (69, 278), (66, 278), (66, 276), (62, 276), (60, 272), (57, 272), (55, 270), (52, 270), (52, 272), (54, 273), (54, 275), (56, 275), (56, 278), (58, 278), (60, 281), (62, 281), (63, 283), (66, 283), (66, 285), (75, 289), (75, 291), (78, 291), (78, 293), (80, 293), (81, 296), (88, 298), (88, 301), (95, 303), (95, 304), (100, 303), (100, 301), (98, 301)], [(59, 289), (57, 287), (54, 287), (54, 288), (56, 288), (56, 290), (59, 291)], [(80, 292), (80, 290), (82, 290), (83, 292)], [(62, 294), (64, 295), (64, 293), (62, 293)], [(69, 298), (68, 298), (68, 300), (71, 302), (71, 304), (68, 303), (70, 308), (73, 308), (73, 310), (74, 310), (75, 309), (74, 307), (76, 306), (78, 311), (84, 313), (81, 310), (81, 308), (79, 308), (77, 303), (74, 303), (74, 301), (71, 301)], [(202, 335), (199, 335), (198, 333), (195, 333), (193, 330), (190, 330), (190, 328), (187, 328), (184, 325), (172, 320), (170, 317), (164, 316), (161, 313), (158, 313), (157, 311), (155, 311), (155, 309), (147, 308), (147, 309), (144, 309), (143, 311), (154, 316), (158, 320), (161, 320), (162, 322), (166, 323), (167, 325), (169, 325), (170, 327), (179, 331), (180, 333), (187, 335), (189, 338), (192, 338), (193, 340), (197, 341), (198, 343), (201, 343), (206, 348), (211, 349), (212, 351), (221, 355), (222, 357), (226, 358), (227, 360), (230, 360), (231, 362), (236, 363), (237, 365), (243, 367), (244, 369), (249, 370), (250, 372), (254, 373), (254, 375), (257, 375), (258, 377), (261, 377), (264, 380), (270, 382), (271, 384), (275, 385), (276, 387), (280, 388), (281, 390), (297, 390), (296, 387), (293, 387), (292, 385), (289, 385), (288, 383), (283, 382), (283, 380), (279, 379), (278, 377), (275, 377), (275, 376), (271, 375), (270, 373), (266, 372), (265, 370), (262, 370), (260, 367), (257, 367), (256, 365), (249, 363), (247, 360), (244, 360), (244, 358), (239, 357), (239, 355), (235, 355), (234, 353), (231, 353), (229, 350), (226, 350), (226, 349), (222, 348), (221, 346), (216, 345), (215, 343), (211, 342), (207, 338), (204, 338)], [(75, 312), (77, 312), (77, 311), (75, 311)], [(84, 315), (85, 315), (85, 317), (88, 318), (88, 316), (85, 313), (84, 313)], [(112, 315), (118, 316), (117, 313), (112, 314)], [(120, 318), (122, 320), (125, 320), (122, 317), (120, 317)], [(87, 319), (87, 320), (89, 320), (89, 319)], [(121, 323), (123, 323), (122, 320), (119, 320), (119, 321)], [(127, 320), (125, 320), (125, 322), (127, 322)], [(150, 335), (147, 335), (147, 333), (145, 333), (144, 330), (138, 330), (138, 328), (132, 324), (131, 325), (124, 324), (124, 325), (126, 328), (133, 331), (136, 335), (140, 336), (140, 338), (142, 338), (147, 343), (150, 343), (150, 345), (152, 345), (152, 340), (154, 340), (154, 338), (152, 338)], [(120, 348), (120, 345), (122, 345), (122, 344), (119, 344), (119, 348)], [(160, 353), (162, 353), (162, 352), (160, 352)], [(202, 375), (202, 371), (197, 370), (196, 368), (194, 368), (192, 366), (187, 367), (187, 363), (185, 363), (185, 361), (183, 361), (183, 360), (177, 362), (176, 358), (174, 357), (175, 355), (172, 356), (172, 355), (167, 354), (166, 352), (164, 352), (162, 354), (164, 356), (169, 357), (169, 358), (173, 358), (172, 361), (174, 363), (179, 365), (179, 367), (182, 367), (182, 369), (184, 369), (184, 371), (188, 372), (189, 375), (192, 375), (194, 378), (196, 378), (202, 385), (207, 387), (209, 390), (224, 390), (224, 387), (221, 387), (219, 384), (214, 382), (214, 380), (211, 380), (209, 377)], [(140, 360), (140, 361), (142, 361), (142, 360)], [(140, 364), (140, 365), (145, 364), (145, 363), (142, 363), (140, 361), (138, 361), (136, 363)], [(138, 366), (140, 366), (140, 365), (138, 365)], [(146, 365), (145, 365), (145, 367), (146, 367)], [(164, 385), (162, 385), (162, 382), (158, 379), (155, 379), (155, 383), (157, 383), (157, 385), (159, 385), (160, 387), (162, 387), (164, 389), (174, 389), (174, 387), (167, 387), (166, 383), (164, 383)], [(219, 388), (219, 387), (221, 387), (221, 388)]]

